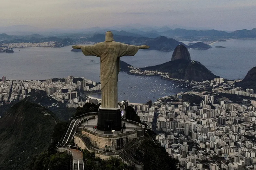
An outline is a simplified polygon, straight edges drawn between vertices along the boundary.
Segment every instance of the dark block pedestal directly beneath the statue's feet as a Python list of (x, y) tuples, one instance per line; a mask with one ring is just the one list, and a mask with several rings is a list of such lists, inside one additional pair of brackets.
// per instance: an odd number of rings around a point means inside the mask
[(116, 109), (102, 108), (98, 109), (98, 124), (97, 130), (101, 131), (121, 131), (122, 120), (121, 120), (121, 109), (120, 106)]

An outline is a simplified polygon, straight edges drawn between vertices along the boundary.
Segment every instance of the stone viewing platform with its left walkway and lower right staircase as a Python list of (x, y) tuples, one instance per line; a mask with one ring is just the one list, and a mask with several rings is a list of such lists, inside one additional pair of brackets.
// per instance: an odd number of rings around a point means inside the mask
[[(136, 161), (127, 151), (143, 142), (145, 126), (122, 118), (123, 131), (101, 131), (94, 129), (95, 126), (97, 127), (97, 121), (98, 115), (93, 112), (75, 117), (67, 128), (58, 150), (67, 150), (67, 146), (77, 147), (79, 150), (86, 149), (94, 152), (95, 157), (105, 160), (110, 157), (120, 158), (128, 165), (142, 169), (142, 163)], [(74, 139), (75, 146), (68, 145), (72, 139)]]

